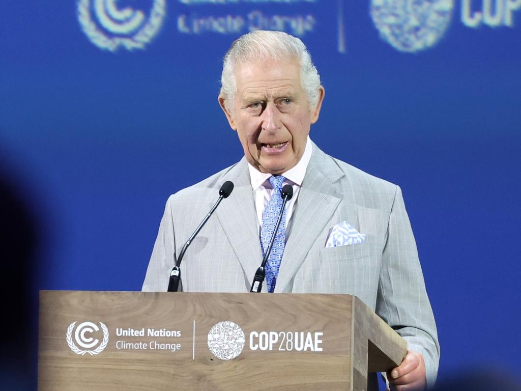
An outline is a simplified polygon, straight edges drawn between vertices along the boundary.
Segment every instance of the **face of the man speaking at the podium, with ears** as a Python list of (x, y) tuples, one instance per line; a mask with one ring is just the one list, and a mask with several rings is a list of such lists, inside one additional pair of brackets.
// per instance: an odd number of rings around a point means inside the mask
[(324, 89), (309, 110), (297, 59), (243, 63), (235, 69), (234, 115), (219, 103), (237, 130), (246, 160), (262, 173), (282, 174), (294, 167), (306, 147), (311, 124), (318, 119)]

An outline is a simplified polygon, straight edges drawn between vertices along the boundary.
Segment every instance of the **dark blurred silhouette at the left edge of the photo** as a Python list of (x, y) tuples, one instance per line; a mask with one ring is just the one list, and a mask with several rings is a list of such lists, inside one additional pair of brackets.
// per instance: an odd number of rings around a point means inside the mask
[(32, 269), (38, 233), (22, 191), (7, 175), (7, 167), (0, 161), (0, 389), (36, 389), (38, 293), (32, 289)]

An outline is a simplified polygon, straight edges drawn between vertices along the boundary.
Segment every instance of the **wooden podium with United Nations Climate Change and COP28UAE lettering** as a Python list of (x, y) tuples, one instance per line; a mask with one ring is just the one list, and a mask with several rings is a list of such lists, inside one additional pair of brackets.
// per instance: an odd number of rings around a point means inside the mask
[(350, 295), (40, 292), (40, 391), (367, 390), (406, 350)]

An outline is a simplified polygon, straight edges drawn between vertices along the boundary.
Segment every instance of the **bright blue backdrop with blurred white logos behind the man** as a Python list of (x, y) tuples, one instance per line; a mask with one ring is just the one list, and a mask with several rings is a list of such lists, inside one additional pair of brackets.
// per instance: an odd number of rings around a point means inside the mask
[(169, 194), (242, 155), (217, 104), (222, 56), (279, 29), (326, 89), (312, 139), (402, 187), (440, 377), (519, 373), (520, 1), (20, 0), (0, 15), (0, 172), (38, 232), (33, 298), (141, 288)]

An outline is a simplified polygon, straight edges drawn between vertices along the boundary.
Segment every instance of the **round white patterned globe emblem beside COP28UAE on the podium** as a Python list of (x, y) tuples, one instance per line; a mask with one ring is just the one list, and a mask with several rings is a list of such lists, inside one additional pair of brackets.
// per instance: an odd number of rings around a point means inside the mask
[(219, 322), (208, 333), (208, 349), (220, 360), (238, 357), (244, 349), (244, 332), (231, 321)]

